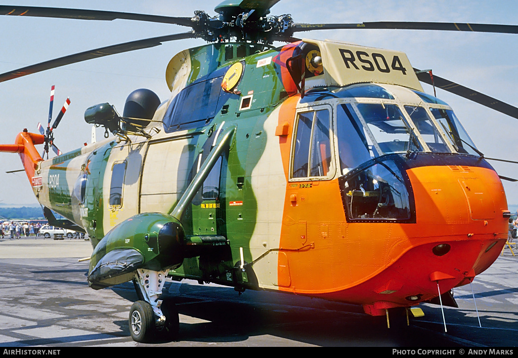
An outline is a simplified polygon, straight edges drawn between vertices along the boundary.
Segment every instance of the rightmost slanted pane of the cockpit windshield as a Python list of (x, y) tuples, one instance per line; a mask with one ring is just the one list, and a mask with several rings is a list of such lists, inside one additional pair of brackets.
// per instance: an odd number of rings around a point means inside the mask
[(473, 149), (476, 148), (475, 144), (451, 109), (430, 108), (430, 112), (447, 133), (458, 153), (479, 155)]

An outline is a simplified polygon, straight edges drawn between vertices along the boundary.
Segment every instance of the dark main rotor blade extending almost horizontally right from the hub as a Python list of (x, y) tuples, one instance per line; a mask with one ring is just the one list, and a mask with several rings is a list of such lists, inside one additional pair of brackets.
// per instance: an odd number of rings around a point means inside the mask
[(518, 34), (518, 25), (469, 24), (456, 22), (402, 22), (378, 21), (343, 24), (294, 24), (293, 32), (311, 30), (342, 30), (342, 29), (384, 29), (384, 30), (442, 30), (442, 31), (471, 31), (494, 32), (502, 34)]

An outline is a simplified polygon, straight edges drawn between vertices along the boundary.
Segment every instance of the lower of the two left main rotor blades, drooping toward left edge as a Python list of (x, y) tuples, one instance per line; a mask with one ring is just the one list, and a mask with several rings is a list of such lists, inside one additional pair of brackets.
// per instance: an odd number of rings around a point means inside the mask
[(106, 47), (101, 47), (95, 50), (89, 50), (84, 52), (79, 52), (76, 54), (71, 54), (69, 56), (60, 57), (59, 59), (54, 59), (50, 61), (41, 62), (35, 65), (26, 66), (23, 68), (19, 68), (18, 70), (13, 70), (10, 72), (6, 72), (0, 74), (0, 82), (8, 81), (13, 78), (18, 78), (26, 75), (30, 75), (33, 73), (50, 70), (51, 68), (61, 67), (65, 65), (69, 65), (71, 63), (87, 61), (90, 59), (96, 59), (99, 57), (109, 56), (110, 54), (128, 52), (139, 50), (143, 48), (155, 47), (162, 45), (162, 43), (167, 41), (180, 40), (185, 38), (195, 37), (192, 32), (184, 32), (175, 35), (166, 35), (159, 37), (151, 37), (143, 40), (131, 41), (118, 45), (111, 45)]

